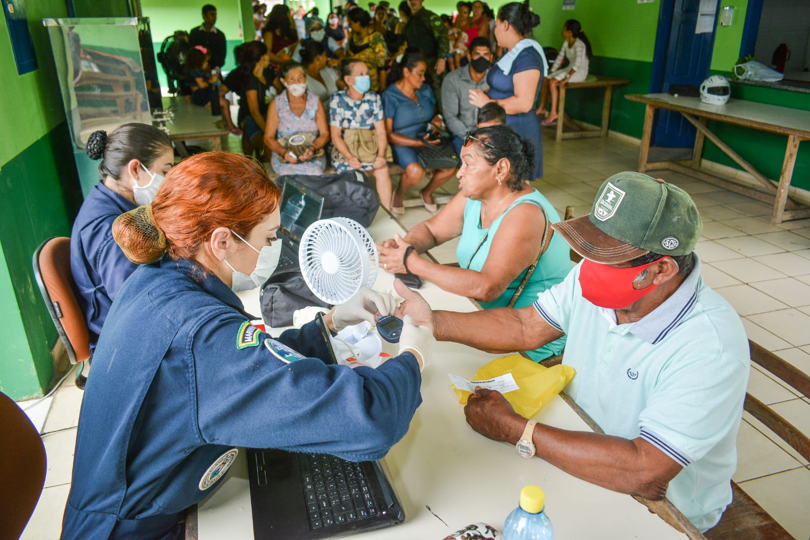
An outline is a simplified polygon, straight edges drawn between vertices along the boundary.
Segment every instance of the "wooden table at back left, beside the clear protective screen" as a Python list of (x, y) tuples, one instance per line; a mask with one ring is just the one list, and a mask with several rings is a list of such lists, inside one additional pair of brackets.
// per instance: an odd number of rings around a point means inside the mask
[(182, 157), (188, 154), (186, 141), (211, 141), (212, 151), (222, 150), (222, 138), (228, 135), (224, 124), (217, 125), (222, 117), (211, 116), (211, 109), (190, 104), (184, 96), (163, 98), (163, 108), (174, 113), (174, 121), (168, 124), (168, 138), (177, 147)]

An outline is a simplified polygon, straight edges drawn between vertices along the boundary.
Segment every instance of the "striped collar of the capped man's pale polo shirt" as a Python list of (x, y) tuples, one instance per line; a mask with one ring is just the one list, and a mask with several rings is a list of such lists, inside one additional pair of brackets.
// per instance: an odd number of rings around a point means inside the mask
[[(697, 286), (701, 277), (701, 260), (693, 253), (694, 267), (672, 295), (653, 311), (636, 321), (630, 332), (653, 345), (660, 342), (683, 321), (697, 302)], [(613, 310), (608, 310), (612, 312)], [(615, 315), (614, 315), (615, 317)]]

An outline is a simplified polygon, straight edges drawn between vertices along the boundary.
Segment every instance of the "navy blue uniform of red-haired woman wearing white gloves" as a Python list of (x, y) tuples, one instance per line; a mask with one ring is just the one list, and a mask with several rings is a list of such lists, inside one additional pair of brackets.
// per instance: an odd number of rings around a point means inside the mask
[(310, 323), (279, 337), (310, 358), (283, 364), (249, 318), (190, 261), (135, 270), (87, 378), (62, 538), (172, 538), (234, 447), (361, 461), (405, 435), (421, 402), (413, 355), (377, 369), (326, 365)]

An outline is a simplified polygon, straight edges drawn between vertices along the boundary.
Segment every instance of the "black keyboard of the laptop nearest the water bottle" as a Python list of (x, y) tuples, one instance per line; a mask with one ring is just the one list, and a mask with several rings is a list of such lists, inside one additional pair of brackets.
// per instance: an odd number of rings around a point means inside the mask
[(360, 463), (326, 454), (297, 456), (311, 529), (377, 514), (377, 505)]

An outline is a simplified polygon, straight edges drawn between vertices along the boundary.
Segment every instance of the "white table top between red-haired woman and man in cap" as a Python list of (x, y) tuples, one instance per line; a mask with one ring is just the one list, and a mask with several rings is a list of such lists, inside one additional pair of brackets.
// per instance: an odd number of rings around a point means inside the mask
[[(369, 232), (375, 239), (403, 233), (380, 210)], [(374, 288), (388, 290), (393, 276), (380, 272)], [(425, 283), (420, 293), (433, 308), (474, 311), (470, 300)], [(245, 308), (258, 313), (258, 292), (242, 293)], [(393, 346), (390, 346), (393, 347)], [(395, 352), (395, 351), (389, 351)], [(447, 373), (471, 377), (496, 355), (451, 342), (437, 342), (422, 374), (423, 403), (403, 440), (385, 458), (406, 520), (402, 525), (364, 533), (363, 540), (444, 538), (475, 521), (503, 529), (518, 505), (524, 485), (546, 492), (546, 511), (558, 540), (565, 538), (685, 538), (629, 495), (608, 491), (557, 469), (538, 458), (519, 457), (514, 447), (472, 431), (463, 406), (450, 388)], [(586, 423), (562, 398), (539, 411), (535, 420), (587, 431)], [(198, 538), (254, 538), (245, 453), (228, 477), (198, 508)], [(425, 505), (447, 525), (433, 516)]]

